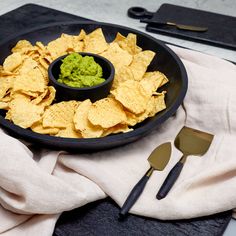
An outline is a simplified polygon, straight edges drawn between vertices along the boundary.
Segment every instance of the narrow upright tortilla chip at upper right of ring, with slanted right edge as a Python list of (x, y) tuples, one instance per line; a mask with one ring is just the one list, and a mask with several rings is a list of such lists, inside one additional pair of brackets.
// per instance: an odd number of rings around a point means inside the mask
[(134, 55), (130, 69), (133, 72), (134, 79), (140, 81), (146, 72), (149, 64), (155, 56), (155, 52), (146, 50)]

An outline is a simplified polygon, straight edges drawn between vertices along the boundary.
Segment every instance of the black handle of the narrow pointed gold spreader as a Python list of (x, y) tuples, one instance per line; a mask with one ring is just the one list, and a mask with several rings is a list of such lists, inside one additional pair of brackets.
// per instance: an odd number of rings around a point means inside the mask
[(143, 192), (143, 189), (149, 179), (149, 176), (147, 176), (146, 174), (139, 180), (139, 182), (131, 190), (125, 203), (121, 207), (121, 210), (119, 213), (120, 216), (124, 217), (128, 213), (129, 209), (134, 205), (134, 203), (139, 198), (140, 194)]

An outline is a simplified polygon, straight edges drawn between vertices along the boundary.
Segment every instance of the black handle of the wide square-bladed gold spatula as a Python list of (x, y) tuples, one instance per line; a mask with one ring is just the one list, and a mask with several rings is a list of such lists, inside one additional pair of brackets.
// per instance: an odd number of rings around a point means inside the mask
[(166, 177), (164, 183), (162, 184), (159, 192), (157, 193), (156, 198), (158, 200), (166, 197), (166, 195), (171, 190), (172, 186), (174, 185), (175, 181), (178, 179), (181, 170), (183, 169), (184, 164), (182, 162), (177, 162), (175, 166), (171, 169), (170, 173)]

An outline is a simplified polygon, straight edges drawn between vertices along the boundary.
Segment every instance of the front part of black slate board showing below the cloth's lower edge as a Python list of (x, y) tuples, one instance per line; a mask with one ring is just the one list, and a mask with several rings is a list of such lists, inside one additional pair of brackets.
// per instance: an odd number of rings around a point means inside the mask
[(217, 236), (222, 235), (231, 214), (182, 221), (160, 221), (129, 215), (118, 220), (119, 207), (105, 199), (64, 212), (54, 236)]

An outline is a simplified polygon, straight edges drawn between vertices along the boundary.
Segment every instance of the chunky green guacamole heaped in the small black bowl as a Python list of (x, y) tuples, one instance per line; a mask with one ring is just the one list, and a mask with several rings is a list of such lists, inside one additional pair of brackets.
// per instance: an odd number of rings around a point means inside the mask
[(102, 67), (92, 56), (71, 53), (62, 60), (60, 69), (57, 81), (71, 87), (91, 87), (105, 81), (102, 78)]

